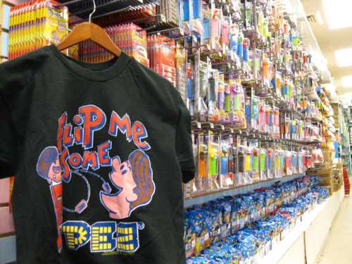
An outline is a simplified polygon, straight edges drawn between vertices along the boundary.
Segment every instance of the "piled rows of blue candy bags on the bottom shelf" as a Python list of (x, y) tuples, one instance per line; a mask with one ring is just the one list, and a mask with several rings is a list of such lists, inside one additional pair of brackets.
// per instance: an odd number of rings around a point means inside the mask
[(187, 263), (255, 263), (329, 193), (303, 177), (254, 193), (227, 196), (185, 212)]

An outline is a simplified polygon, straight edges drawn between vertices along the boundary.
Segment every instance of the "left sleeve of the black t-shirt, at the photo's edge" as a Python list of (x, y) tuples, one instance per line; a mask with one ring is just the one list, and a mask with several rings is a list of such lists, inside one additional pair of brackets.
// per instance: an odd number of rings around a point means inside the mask
[(32, 99), (34, 61), (29, 55), (0, 64), (0, 178), (20, 164)]

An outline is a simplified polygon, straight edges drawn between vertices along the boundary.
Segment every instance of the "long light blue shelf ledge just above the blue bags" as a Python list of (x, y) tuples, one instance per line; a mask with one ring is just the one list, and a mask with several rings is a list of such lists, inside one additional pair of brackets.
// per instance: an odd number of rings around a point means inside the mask
[(245, 194), (245, 193), (248, 193), (248, 192), (253, 191), (255, 189), (260, 189), (263, 187), (270, 187), (275, 182), (288, 182), (288, 181), (294, 180), (298, 177), (303, 177), (305, 175), (306, 175), (306, 173), (298, 173), (295, 175), (289, 175), (289, 176), (285, 176), (285, 177), (281, 177), (281, 178), (275, 178), (275, 179), (270, 179), (270, 180), (265, 180), (265, 181), (260, 181), (260, 182), (254, 182), (253, 184), (249, 184), (249, 185), (233, 187), (231, 189), (222, 189), (222, 190), (213, 191), (210, 193), (209, 192), (199, 193), (191, 198), (185, 199), (184, 200), (184, 208), (189, 208), (189, 207), (194, 206), (196, 204), (201, 204), (201, 203), (206, 203), (208, 201), (213, 201), (213, 200), (221, 198), (223, 196), (234, 196), (237, 194)]

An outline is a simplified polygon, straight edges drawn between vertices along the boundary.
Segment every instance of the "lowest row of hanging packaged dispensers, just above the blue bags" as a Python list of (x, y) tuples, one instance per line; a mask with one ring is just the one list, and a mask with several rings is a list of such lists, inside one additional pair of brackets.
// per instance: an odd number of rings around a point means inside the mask
[(184, 196), (211, 197), (209, 194), (230, 193), (229, 189), (305, 173), (324, 161), (316, 142), (308, 144), (306, 140), (275, 139), (229, 130), (224, 125), (194, 122), (196, 177), (185, 185)]

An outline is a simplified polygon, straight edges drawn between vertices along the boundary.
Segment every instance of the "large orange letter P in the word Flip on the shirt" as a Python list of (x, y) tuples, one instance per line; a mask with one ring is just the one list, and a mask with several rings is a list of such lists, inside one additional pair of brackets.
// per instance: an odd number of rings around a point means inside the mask
[(79, 112), (84, 119), (83, 146), (84, 149), (91, 149), (94, 142), (94, 132), (104, 127), (106, 115), (101, 108), (92, 104), (80, 107)]

